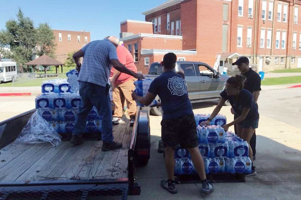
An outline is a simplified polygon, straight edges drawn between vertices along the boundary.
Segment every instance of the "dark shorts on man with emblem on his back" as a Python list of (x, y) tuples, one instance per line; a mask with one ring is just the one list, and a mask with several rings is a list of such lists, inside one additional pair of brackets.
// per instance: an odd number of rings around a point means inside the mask
[(164, 147), (194, 148), (199, 145), (194, 115), (184, 115), (161, 121)]

